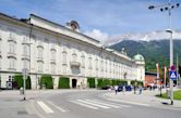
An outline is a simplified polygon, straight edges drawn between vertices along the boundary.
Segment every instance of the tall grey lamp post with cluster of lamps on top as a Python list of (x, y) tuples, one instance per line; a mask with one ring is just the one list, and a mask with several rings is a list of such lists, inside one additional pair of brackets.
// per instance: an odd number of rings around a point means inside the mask
[[(169, 29), (167, 29), (166, 31), (170, 34), (170, 67), (173, 66), (173, 41), (172, 41), (172, 34), (173, 31), (171, 30), (171, 10), (173, 10), (174, 8), (179, 8), (180, 3), (176, 3), (172, 4), (171, 0), (168, 1), (168, 3), (166, 4), (160, 4), (160, 5), (149, 5), (148, 9), (149, 10), (154, 10), (156, 8), (160, 9), (160, 12), (165, 12), (168, 11), (168, 15), (169, 15)], [(173, 105), (173, 81), (170, 79), (170, 91), (171, 91), (171, 105)]]

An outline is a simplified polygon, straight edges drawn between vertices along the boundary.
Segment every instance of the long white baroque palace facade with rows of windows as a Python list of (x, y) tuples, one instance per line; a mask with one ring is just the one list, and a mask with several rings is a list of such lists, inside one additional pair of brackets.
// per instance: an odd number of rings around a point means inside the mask
[(15, 74), (28, 69), (32, 88), (38, 89), (43, 74), (51, 75), (53, 88), (60, 76), (86, 86), (87, 77), (144, 80), (144, 60), (101, 47), (98, 40), (79, 31), (79, 24), (61, 26), (31, 14), (17, 19), (0, 13), (0, 88)]

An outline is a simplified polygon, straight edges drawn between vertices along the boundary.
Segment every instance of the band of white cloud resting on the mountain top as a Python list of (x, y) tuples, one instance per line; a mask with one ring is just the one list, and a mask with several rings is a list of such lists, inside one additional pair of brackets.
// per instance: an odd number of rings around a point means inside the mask
[[(165, 30), (157, 30), (150, 32), (129, 32), (120, 35), (108, 35), (99, 29), (93, 29), (92, 31), (85, 31), (85, 35), (99, 40), (105, 45), (112, 45), (122, 40), (134, 40), (134, 41), (150, 41), (169, 39), (170, 35)], [(181, 30), (173, 31), (173, 39), (181, 40)]]

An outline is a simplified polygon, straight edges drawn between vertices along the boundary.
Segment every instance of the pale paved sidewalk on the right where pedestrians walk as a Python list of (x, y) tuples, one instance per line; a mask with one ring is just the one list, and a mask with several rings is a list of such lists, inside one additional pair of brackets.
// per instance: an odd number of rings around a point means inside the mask
[[(166, 92), (166, 90), (162, 90), (162, 93), (164, 92)], [(109, 91), (105, 95), (108, 96), (108, 100), (116, 101), (116, 102), (122, 102), (122, 103), (134, 104), (134, 105), (143, 105), (143, 106), (157, 106), (157, 107), (181, 109), (181, 101), (174, 100), (174, 104), (170, 105), (170, 100), (156, 97), (155, 96), (156, 94), (160, 94), (160, 91), (145, 90), (142, 92), (142, 94), (138, 94), (138, 91), (136, 91), (136, 94), (134, 94), (133, 91), (125, 92), (124, 94), (123, 92), (119, 92), (118, 94), (116, 94), (114, 91)]]

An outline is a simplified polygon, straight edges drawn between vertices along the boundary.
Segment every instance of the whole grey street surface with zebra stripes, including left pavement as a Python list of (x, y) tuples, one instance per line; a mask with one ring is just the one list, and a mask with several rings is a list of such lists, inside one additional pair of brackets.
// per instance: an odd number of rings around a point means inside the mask
[(105, 95), (109, 91), (29, 91), (27, 101), (20, 101), (22, 99), (20, 95), (1, 94), (0, 115), (3, 118), (180, 118), (181, 116), (181, 109), (110, 101)]

